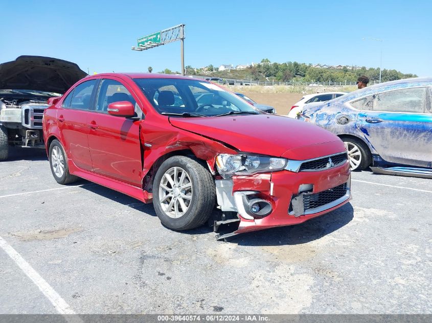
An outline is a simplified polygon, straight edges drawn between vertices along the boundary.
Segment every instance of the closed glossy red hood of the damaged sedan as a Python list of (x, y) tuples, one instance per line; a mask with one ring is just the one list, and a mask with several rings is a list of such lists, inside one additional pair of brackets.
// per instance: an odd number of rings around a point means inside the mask
[(170, 117), (170, 122), (247, 153), (304, 160), (345, 151), (342, 140), (327, 130), (278, 115)]

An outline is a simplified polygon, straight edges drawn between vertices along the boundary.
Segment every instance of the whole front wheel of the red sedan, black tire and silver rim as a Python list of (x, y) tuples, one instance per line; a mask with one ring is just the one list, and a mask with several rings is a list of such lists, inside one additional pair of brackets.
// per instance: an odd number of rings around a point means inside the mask
[(153, 182), (153, 206), (171, 230), (190, 230), (203, 225), (215, 206), (215, 182), (200, 162), (174, 156), (162, 163)]

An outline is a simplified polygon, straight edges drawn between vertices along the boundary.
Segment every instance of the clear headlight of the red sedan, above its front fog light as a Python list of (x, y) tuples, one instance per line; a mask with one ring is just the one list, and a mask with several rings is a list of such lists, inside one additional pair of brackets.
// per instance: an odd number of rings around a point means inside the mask
[(252, 175), (258, 172), (277, 171), (285, 168), (285, 158), (221, 154), (216, 158), (216, 166), (224, 178), (233, 175)]

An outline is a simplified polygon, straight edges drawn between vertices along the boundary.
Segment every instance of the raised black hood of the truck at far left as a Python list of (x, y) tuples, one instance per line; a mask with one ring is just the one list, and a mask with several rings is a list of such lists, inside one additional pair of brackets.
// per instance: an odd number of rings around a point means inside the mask
[(0, 90), (64, 93), (87, 75), (75, 63), (43, 56), (20, 56), (0, 64)]

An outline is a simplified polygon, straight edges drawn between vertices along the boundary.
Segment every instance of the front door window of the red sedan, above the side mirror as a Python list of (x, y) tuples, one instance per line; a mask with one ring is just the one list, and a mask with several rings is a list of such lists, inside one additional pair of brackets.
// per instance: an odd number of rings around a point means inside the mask
[(123, 84), (115, 80), (102, 80), (96, 101), (96, 111), (108, 113), (108, 105), (120, 101), (132, 103), (137, 111), (137, 102)]

